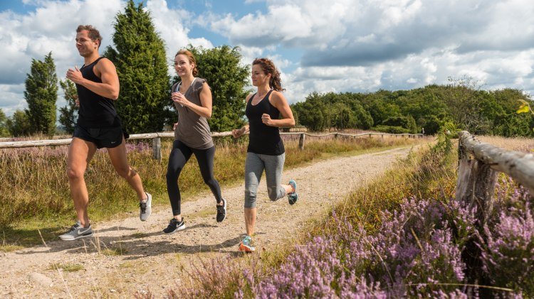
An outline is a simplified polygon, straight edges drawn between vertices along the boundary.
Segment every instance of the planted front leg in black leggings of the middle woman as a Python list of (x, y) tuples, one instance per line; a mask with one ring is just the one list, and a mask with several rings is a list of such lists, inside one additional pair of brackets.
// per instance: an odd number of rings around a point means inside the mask
[(167, 164), (167, 193), (169, 194), (169, 201), (171, 202), (172, 215), (177, 220), (182, 220), (180, 212), (180, 189), (178, 186), (178, 177), (184, 169), (185, 163), (192, 155), (191, 148), (184, 143), (175, 140), (172, 143), (171, 153), (169, 155), (169, 163)]

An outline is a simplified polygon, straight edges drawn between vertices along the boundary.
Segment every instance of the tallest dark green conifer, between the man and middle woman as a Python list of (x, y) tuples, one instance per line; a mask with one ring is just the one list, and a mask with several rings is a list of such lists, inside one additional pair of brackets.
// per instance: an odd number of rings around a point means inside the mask
[(142, 5), (130, 0), (124, 13), (117, 13), (115, 48), (108, 46), (104, 54), (117, 67), (120, 94), (115, 107), (130, 133), (161, 131), (171, 104), (164, 42)]

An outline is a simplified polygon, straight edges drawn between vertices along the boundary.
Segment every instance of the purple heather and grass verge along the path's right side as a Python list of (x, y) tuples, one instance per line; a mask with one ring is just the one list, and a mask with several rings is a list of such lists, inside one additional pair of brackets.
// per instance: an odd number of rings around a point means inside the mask
[[(278, 263), (253, 257), (253, 266), (232, 268), (231, 292), (222, 297), (478, 298), (481, 290), (503, 298), (532, 297), (533, 200), (500, 175), (494, 213), (481, 234), (476, 207), (454, 199), (456, 155), (446, 142), (356, 190), (321, 229), (308, 229), (308, 241), (281, 253)], [(479, 244), (483, 267), (476, 270), (491, 277), (486, 286), (468, 283), (472, 273), (464, 261), (468, 241), (482, 235), (487, 236)]]

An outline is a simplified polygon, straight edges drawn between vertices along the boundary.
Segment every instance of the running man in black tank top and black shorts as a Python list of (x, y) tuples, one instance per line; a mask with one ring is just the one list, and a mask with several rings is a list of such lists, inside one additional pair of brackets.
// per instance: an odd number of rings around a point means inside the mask
[(78, 222), (59, 236), (62, 240), (93, 235), (87, 212), (89, 195), (84, 174), (98, 148), (108, 148), (113, 168), (137, 193), (141, 221), (147, 220), (152, 212), (152, 196), (143, 190), (140, 176), (126, 158), (125, 138), (128, 135), (122, 129), (113, 104), (119, 97), (119, 77), (115, 65), (100, 57), (98, 48), (101, 43), (102, 37), (93, 26), (80, 25), (76, 29), (76, 48), (83, 57), (83, 66), (79, 70), (78, 67), (69, 69), (66, 75), (76, 85), (80, 104), (73, 141), (68, 147), (67, 175)]

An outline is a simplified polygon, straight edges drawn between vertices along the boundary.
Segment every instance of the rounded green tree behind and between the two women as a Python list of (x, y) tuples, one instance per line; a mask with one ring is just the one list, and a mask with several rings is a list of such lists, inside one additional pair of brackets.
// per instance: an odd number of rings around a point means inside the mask
[(244, 124), (245, 98), (248, 91), (250, 68), (241, 65), (239, 48), (228, 45), (205, 49), (188, 49), (197, 60), (197, 69), (201, 77), (207, 80), (211, 87), (213, 98), (213, 112), (209, 119), (211, 131), (231, 131)]

